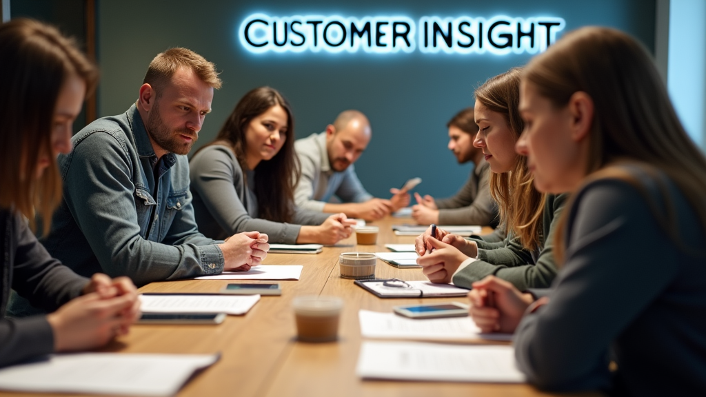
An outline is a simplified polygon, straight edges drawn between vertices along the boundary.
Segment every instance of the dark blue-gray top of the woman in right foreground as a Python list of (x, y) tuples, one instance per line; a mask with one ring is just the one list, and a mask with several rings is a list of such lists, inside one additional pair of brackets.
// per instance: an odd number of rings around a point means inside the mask
[[(603, 179), (579, 191), (567, 208), (566, 261), (549, 304), (525, 316), (515, 334), (518, 366), (533, 384), (706, 396), (705, 225), (664, 182), (674, 213), (650, 180), (646, 194), (700, 256), (675, 244), (634, 186)], [(609, 355), (618, 365), (613, 374)]]

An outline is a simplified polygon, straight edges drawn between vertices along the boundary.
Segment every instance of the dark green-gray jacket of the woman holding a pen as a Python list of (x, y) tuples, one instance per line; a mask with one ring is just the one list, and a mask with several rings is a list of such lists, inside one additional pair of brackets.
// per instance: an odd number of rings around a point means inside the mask
[(557, 272), (554, 262), (554, 230), (567, 198), (566, 194), (547, 196), (542, 213), (542, 235), (539, 236), (537, 249), (529, 251), (523, 248), (520, 239), (512, 233), (508, 233), (503, 242), (476, 240), (479, 260), (458, 271), (453, 277), (453, 283), (471, 288), (472, 283), (486, 275), (496, 275), (510, 281), (519, 290), (549, 287)]

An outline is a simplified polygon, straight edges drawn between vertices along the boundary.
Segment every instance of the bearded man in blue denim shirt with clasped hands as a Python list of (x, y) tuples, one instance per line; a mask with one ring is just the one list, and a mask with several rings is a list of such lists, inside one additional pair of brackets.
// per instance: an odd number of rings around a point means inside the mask
[(49, 254), (80, 275), (127, 275), (138, 286), (262, 261), (267, 235), (214, 241), (194, 221), (186, 154), (220, 88), (217, 74), (195, 52), (169, 49), (152, 60), (127, 112), (73, 136), (73, 151), (59, 156), (64, 200), (42, 239)]

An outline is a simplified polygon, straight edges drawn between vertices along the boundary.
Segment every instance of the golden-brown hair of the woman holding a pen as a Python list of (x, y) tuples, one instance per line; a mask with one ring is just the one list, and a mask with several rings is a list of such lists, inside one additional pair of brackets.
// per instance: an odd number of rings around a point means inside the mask
[[(517, 105), (520, 102), (520, 75), (522, 69), (491, 77), (475, 91), (476, 100), (491, 112), (500, 113), (505, 118), (515, 141), (520, 138), (525, 122), (520, 117)], [(534, 177), (527, 168), (527, 160), (521, 155), (515, 157), (513, 170), (496, 174), (491, 172), (490, 194), (498, 203), (500, 223), (508, 232), (520, 238), (520, 244), (530, 250), (539, 247), (542, 235), (542, 213), (546, 195), (534, 189)]]

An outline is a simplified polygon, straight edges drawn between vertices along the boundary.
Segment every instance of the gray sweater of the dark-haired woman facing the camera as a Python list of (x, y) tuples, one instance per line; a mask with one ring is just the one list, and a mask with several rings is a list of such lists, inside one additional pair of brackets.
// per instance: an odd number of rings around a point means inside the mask
[[(214, 239), (225, 239), (239, 232), (257, 230), (266, 233), (270, 242), (294, 244), (301, 225), (321, 225), (326, 213), (297, 209), (294, 222), (271, 222), (258, 219), (258, 200), (251, 186), (256, 183), (253, 171), (243, 170), (227, 146), (203, 148), (189, 162), (193, 210), (198, 230)], [(272, 192), (272, 194), (276, 194)]]

